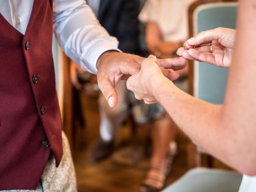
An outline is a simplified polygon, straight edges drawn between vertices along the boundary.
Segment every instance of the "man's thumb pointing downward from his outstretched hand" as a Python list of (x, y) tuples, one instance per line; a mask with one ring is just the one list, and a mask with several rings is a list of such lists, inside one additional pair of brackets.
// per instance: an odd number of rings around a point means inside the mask
[(110, 107), (114, 107), (117, 104), (118, 96), (116, 93), (116, 90), (114, 89), (114, 86), (110, 81), (105, 81), (104, 83), (98, 82), (98, 86), (104, 96), (104, 98), (107, 100), (108, 105)]

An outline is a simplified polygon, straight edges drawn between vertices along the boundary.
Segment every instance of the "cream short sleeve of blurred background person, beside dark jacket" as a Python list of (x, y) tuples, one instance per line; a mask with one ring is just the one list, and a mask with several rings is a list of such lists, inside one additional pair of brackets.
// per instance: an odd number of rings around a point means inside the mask
[(149, 21), (157, 21), (158, 10), (159, 10), (158, 0), (147, 0), (142, 10), (140, 11), (138, 18), (143, 23), (147, 23)]

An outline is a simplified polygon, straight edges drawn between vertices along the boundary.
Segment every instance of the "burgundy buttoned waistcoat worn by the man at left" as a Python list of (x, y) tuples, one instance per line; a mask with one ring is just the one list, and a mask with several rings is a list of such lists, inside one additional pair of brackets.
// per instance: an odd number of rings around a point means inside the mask
[(61, 130), (52, 2), (34, 0), (24, 35), (0, 14), (0, 190), (35, 189), (51, 151), (60, 163)]

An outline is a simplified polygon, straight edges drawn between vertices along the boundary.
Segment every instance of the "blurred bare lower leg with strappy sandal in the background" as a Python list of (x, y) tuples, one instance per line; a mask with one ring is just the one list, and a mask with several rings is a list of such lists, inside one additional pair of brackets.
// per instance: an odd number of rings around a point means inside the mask
[[(140, 190), (158, 191), (164, 187), (166, 177), (170, 172), (170, 166), (176, 154), (176, 125), (166, 114), (163, 118), (154, 120), (151, 128), (153, 152), (150, 160), (150, 170)], [(150, 189), (150, 190), (149, 190)]]

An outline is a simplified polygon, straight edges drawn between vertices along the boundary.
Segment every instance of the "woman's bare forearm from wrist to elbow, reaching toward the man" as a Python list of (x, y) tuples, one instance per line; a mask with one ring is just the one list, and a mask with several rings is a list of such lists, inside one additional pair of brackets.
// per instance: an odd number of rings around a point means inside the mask
[(162, 79), (154, 80), (154, 96), (178, 127), (216, 158), (244, 172), (241, 156), (246, 158), (247, 152), (240, 149), (248, 143), (238, 140), (241, 133), (225, 123), (223, 106), (198, 100)]

